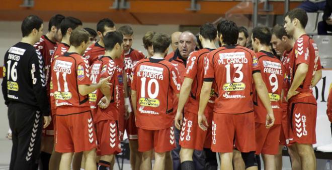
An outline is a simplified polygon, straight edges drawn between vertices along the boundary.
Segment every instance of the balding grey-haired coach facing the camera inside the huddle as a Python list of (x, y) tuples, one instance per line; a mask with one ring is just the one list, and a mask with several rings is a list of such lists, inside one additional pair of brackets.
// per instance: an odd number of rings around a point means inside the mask
[[(195, 51), (196, 41), (197, 41), (196, 36), (190, 31), (185, 31), (181, 33), (179, 37), (178, 48), (176, 49), (173, 55), (171, 53), (165, 57), (168, 58), (169, 61), (177, 67), (180, 73), (181, 84), (182, 81), (184, 80), (184, 73), (186, 72), (187, 58), (189, 57), (190, 53)], [(173, 109), (177, 110), (178, 100), (174, 101), (173, 104), (174, 104)], [(179, 145), (180, 130), (174, 128), (174, 131), (175, 131), (175, 141), (177, 147), (172, 150), (172, 158), (173, 158), (173, 169), (177, 170), (181, 168), (180, 155), (179, 155), (181, 149)], [(193, 159), (195, 162), (195, 169), (204, 169), (205, 156), (202, 151), (195, 150), (193, 154)]]

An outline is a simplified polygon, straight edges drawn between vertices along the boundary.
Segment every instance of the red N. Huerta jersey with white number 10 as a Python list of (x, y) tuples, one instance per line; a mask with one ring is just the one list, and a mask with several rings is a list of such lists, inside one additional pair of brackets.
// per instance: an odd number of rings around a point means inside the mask
[(136, 126), (148, 130), (171, 127), (174, 94), (180, 87), (179, 73), (170, 62), (153, 58), (139, 61), (131, 86), (137, 92)]

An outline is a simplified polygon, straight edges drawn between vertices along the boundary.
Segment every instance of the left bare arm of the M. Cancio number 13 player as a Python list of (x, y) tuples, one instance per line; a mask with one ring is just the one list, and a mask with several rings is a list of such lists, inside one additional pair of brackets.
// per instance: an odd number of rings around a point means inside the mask
[(207, 81), (203, 82), (201, 96), (199, 98), (198, 125), (204, 131), (207, 130), (207, 127), (209, 126), (209, 124), (207, 123), (206, 117), (204, 115), (204, 110), (205, 110), (207, 102), (209, 101), (209, 98), (210, 98), (212, 83), (213, 82), (207, 82)]

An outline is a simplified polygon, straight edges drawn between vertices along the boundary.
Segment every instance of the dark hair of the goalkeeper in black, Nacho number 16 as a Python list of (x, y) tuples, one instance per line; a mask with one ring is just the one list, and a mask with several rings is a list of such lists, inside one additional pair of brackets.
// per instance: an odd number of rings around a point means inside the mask
[(38, 16), (31, 15), (26, 17), (21, 24), (22, 37), (29, 36), (33, 29), (37, 29), (39, 31), (42, 24), (43, 20)]

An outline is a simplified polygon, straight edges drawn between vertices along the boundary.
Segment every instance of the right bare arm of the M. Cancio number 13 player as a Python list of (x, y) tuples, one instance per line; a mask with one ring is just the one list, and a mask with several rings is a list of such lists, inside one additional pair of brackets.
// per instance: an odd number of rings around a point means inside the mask
[(253, 78), (254, 78), (257, 94), (260, 97), (265, 109), (268, 112), (268, 114), (266, 115), (266, 127), (270, 128), (273, 126), (275, 118), (274, 118), (273, 110), (271, 107), (268, 89), (266, 88), (266, 85), (262, 79), (261, 73), (254, 73)]

